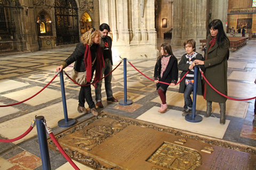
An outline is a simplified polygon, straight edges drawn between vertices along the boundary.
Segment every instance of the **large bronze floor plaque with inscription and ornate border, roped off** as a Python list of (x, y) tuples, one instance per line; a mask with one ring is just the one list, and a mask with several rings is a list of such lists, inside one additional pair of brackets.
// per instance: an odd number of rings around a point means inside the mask
[(71, 158), (94, 169), (256, 169), (254, 147), (107, 112), (55, 137)]

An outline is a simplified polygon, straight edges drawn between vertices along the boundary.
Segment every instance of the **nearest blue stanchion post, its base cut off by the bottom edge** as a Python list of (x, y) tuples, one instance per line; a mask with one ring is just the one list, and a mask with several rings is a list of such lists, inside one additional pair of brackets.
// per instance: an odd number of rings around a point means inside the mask
[(43, 170), (51, 170), (49, 148), (47, 145), (46, 130), (44, 125), (44, 116), (36, 116), (36, 130), (38, 135)]

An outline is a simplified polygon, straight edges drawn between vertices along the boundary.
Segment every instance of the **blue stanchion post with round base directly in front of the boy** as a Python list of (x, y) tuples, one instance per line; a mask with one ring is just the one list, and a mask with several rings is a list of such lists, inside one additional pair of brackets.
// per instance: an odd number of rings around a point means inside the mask
[(193, 105), (192, 105), (192, 114), (185, 116), (185, 120), (188, 122), (201, 122), (203, 117), (196, 115), (196, 93), (197, 93), (197, 77), (198, 77), (198, 66), (194, 66), (194, 87), (193, 87)]

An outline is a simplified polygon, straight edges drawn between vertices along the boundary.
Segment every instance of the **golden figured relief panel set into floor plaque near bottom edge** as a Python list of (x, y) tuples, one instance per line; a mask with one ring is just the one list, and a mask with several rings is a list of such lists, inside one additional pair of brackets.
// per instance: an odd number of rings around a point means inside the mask
[(147, 162), (173, 170), (196, 169), (202, 165), (202, 157), (195, 150), (165, 142)]

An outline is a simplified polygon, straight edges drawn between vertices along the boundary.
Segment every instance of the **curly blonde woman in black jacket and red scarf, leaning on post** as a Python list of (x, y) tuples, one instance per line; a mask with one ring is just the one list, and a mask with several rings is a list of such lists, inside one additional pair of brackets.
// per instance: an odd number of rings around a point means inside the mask
[[(68, 65), (75, 62), (74, 69), (77, 72), (86, 71), (86, 84), (90, 84), (93, 78), (93, 72), (95, 70), (95, 77), (93, 82), (97, 82), (101, 78), (101, 70), (104, 67), (102, 50), (100, 48), (100, 32), (95, 28), (85, 32), (81, 37), (81, 43), (76, 45), (76, 48), (60, 66), (57, 67), (56, 71), (65, 69)], [(90, 111), (93, 115), (97, 116), (98, 112), (92, 99), (91, 86), (81, 86), (78, 96), (78, 107), (79, 113), (89, 113), (84, 107), (85, 100), (89, 105)]]

